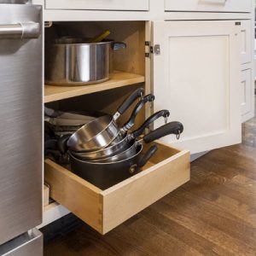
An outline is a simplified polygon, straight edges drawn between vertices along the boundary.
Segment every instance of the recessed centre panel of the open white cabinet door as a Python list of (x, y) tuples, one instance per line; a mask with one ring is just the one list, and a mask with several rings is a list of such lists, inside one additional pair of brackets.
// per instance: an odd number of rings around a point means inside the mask
[(171, 117), (183, 121), (187, 127), (183, 136), (189, 140), (229, 129), (228, 40), (227, 36), (169, 38), (166, 96), (173, 106), (183, 102), (178, 110), (171, 108)]

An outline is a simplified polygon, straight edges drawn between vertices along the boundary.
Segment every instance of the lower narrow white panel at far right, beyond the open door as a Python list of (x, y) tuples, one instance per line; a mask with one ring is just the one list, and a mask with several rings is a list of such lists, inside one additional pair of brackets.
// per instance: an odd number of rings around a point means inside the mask
[(242, 121), (253, 117), (253, 90), (252, 69), (241, 71), (241, 116)]

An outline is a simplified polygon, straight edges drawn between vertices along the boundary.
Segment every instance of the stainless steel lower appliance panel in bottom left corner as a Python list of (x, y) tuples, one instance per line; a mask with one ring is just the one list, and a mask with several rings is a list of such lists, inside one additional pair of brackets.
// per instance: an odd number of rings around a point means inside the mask
[(43, 256), (43, 234), (30, 230), (0, 246), (1, 256)]

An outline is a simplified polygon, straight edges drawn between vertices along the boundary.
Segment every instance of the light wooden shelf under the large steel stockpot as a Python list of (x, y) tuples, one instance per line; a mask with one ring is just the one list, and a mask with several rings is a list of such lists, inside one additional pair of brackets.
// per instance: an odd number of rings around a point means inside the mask
[(110, 79), (101, 84), (90, 84), (84, 86), (53, 86), (45, 84), (44, 103), (55, 102), (74, 96), (82, 96), (102, 90), (110, 90), (131, 84), (143, 83), (145, 77), (134, 73), (115, 71), (110, 74)]

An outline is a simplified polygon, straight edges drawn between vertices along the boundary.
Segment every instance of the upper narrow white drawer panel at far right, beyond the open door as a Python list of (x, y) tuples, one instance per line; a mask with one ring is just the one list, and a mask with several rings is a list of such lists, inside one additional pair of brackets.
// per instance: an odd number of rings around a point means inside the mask
[(251, 20), (241, 20), (241, 64), (252, 61)]

